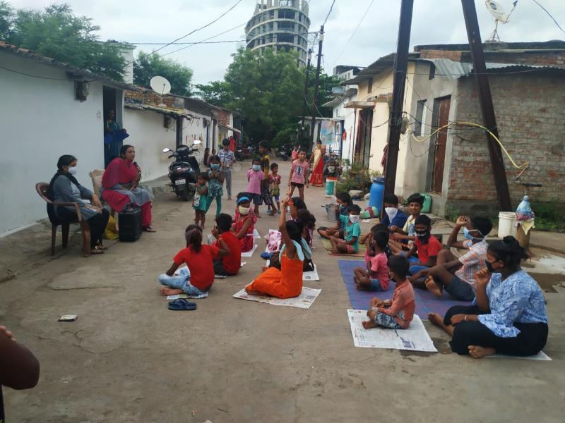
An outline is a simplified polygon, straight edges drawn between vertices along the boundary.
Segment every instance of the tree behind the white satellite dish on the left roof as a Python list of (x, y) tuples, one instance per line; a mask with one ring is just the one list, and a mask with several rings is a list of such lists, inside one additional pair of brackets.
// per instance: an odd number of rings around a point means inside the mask
[(157, 53), (140, 51), (133, 62), (133, 82), (149, 87), (154, 76), (163, 76), (171, 83), (173, 94), (190, 96), (192, 69), (172, 59), (162, 59)]

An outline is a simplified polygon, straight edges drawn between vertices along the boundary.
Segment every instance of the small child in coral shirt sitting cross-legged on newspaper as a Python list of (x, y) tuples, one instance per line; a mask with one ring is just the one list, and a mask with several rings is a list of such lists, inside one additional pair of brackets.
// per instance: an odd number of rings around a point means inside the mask
[(408, 266), (406, 257), (396, 255), (388, 259), (388, 275), (396, 282), (393, 299), (383, 301), (375, 297), (371, 300), (367, 311), (369, 320), (363, 322), (365, 329), (408, 329), (416, 308), (414, 288), (406, 278)]

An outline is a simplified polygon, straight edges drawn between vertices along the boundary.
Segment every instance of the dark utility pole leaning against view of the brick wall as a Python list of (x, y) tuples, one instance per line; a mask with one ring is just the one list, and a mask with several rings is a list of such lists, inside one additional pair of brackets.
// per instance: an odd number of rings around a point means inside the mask
[[(477, 20), (475, 0), (461, 0), (461, 5), (463, 6), (463, 16), (465, 16), (465, 27), (467, 28), (467, 37), (469, 39), (472, 68), (475, 73), (475, 82), (477, 82), (477, 90), (479, 92), (482, 121), (484, 126), (488, 128), (496, 138), (499, 138), (499, 130), (496, 127), (496, 116), (494, 116), (494, 106), (492, 105), (489, 78), (487, 77), (487, 66), (484, 63), (482, 39), (479, 30), (479, 22)], [(485, 135), (487, 135), (490, 165), (492, 168), (492, 176), (494, 177), (496, 195), (498, 195), (499, 209), (501, 212), (510, 212), (512, 205), (508, 180), (506, 180), (506, 170), (504, 168), (504, 161), (502, 160), (502, 150), (492, 135), (486, 131)]]

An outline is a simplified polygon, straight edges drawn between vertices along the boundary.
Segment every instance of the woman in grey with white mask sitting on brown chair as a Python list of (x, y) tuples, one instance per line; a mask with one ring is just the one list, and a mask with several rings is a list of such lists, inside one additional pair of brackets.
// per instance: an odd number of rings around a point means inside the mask
[[(76, 157), (64, 154), (57, 161), (57, 173), (49, 184), (49, 196), (54, 202), (76, 202), (81, 206), (83, 219), (90, 226), (90, 253), (102, 254), (102, 235), (108, 223), (109, 212), (102, 208), (98, 197), (76, 180)], [(90, 200), (88, 204), (84, 200)], [(71, 206), (54, 207), (54, 214), (64, 221), (78, 219), (76, 209)]]

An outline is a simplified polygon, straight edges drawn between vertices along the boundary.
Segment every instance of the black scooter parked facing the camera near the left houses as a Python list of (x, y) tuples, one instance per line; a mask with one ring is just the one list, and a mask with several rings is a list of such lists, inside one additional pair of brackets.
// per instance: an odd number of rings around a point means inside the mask
[(196, 140), (190, 147), (181, 145), (177, 151), (172, 151), (165, 147), (164, 153), (171, 153), (169, 159), (174, 157), (174, 161), (169, 164), (169, 179), (173, 192), (177, 197), (181, 197), (183, 201), (188, 201), (189, 197), (196, 192), (196, 178), (200, 173), (198, 161), (191, 154), (198, 151), (192, 148), (194, 145), (201, 144), (200, 140)]

